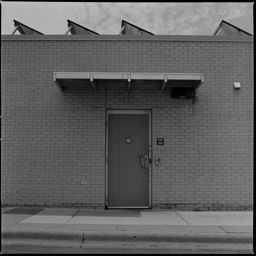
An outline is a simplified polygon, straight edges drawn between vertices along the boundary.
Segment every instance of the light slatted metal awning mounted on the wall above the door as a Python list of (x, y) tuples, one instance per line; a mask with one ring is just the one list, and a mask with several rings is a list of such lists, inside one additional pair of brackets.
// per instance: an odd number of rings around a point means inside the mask
[(61, 91), (66, 87), (155, 87), (161, 92), (166, 88), (188, 87), (197, 90), (204, 82), (202, 73), (119, 73), (119, 72), (53, 72), (53, 81)]

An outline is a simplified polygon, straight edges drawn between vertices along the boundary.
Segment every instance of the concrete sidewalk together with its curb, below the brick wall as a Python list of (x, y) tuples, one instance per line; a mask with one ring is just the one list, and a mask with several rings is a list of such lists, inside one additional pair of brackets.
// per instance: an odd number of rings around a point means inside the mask
[(253, 248), (253, 211), (2, 208), (1, 215), (2, 245)]

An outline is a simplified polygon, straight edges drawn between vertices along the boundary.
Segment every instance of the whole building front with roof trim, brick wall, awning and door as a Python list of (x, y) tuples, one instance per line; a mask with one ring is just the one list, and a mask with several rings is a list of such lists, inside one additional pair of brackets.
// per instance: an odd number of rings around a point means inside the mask
[(253, 37), (5, 35), (1, 54), (2, 206), (252, 209)]

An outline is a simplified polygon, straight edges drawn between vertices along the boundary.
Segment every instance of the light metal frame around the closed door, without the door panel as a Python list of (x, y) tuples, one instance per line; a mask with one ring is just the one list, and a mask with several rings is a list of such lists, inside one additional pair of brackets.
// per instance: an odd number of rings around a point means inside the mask
[[(148, 114), (148, 158), (151, 160), (151, 109), (106, 109), (106, 177), (105, 177), (105, 208), (108, 208), (108, 115), (109, 114)], [(121, 209), (121, 208), (151, 208), (151, 163), (148, 169), (148, 207), (109, 207), (108, 209)]]

